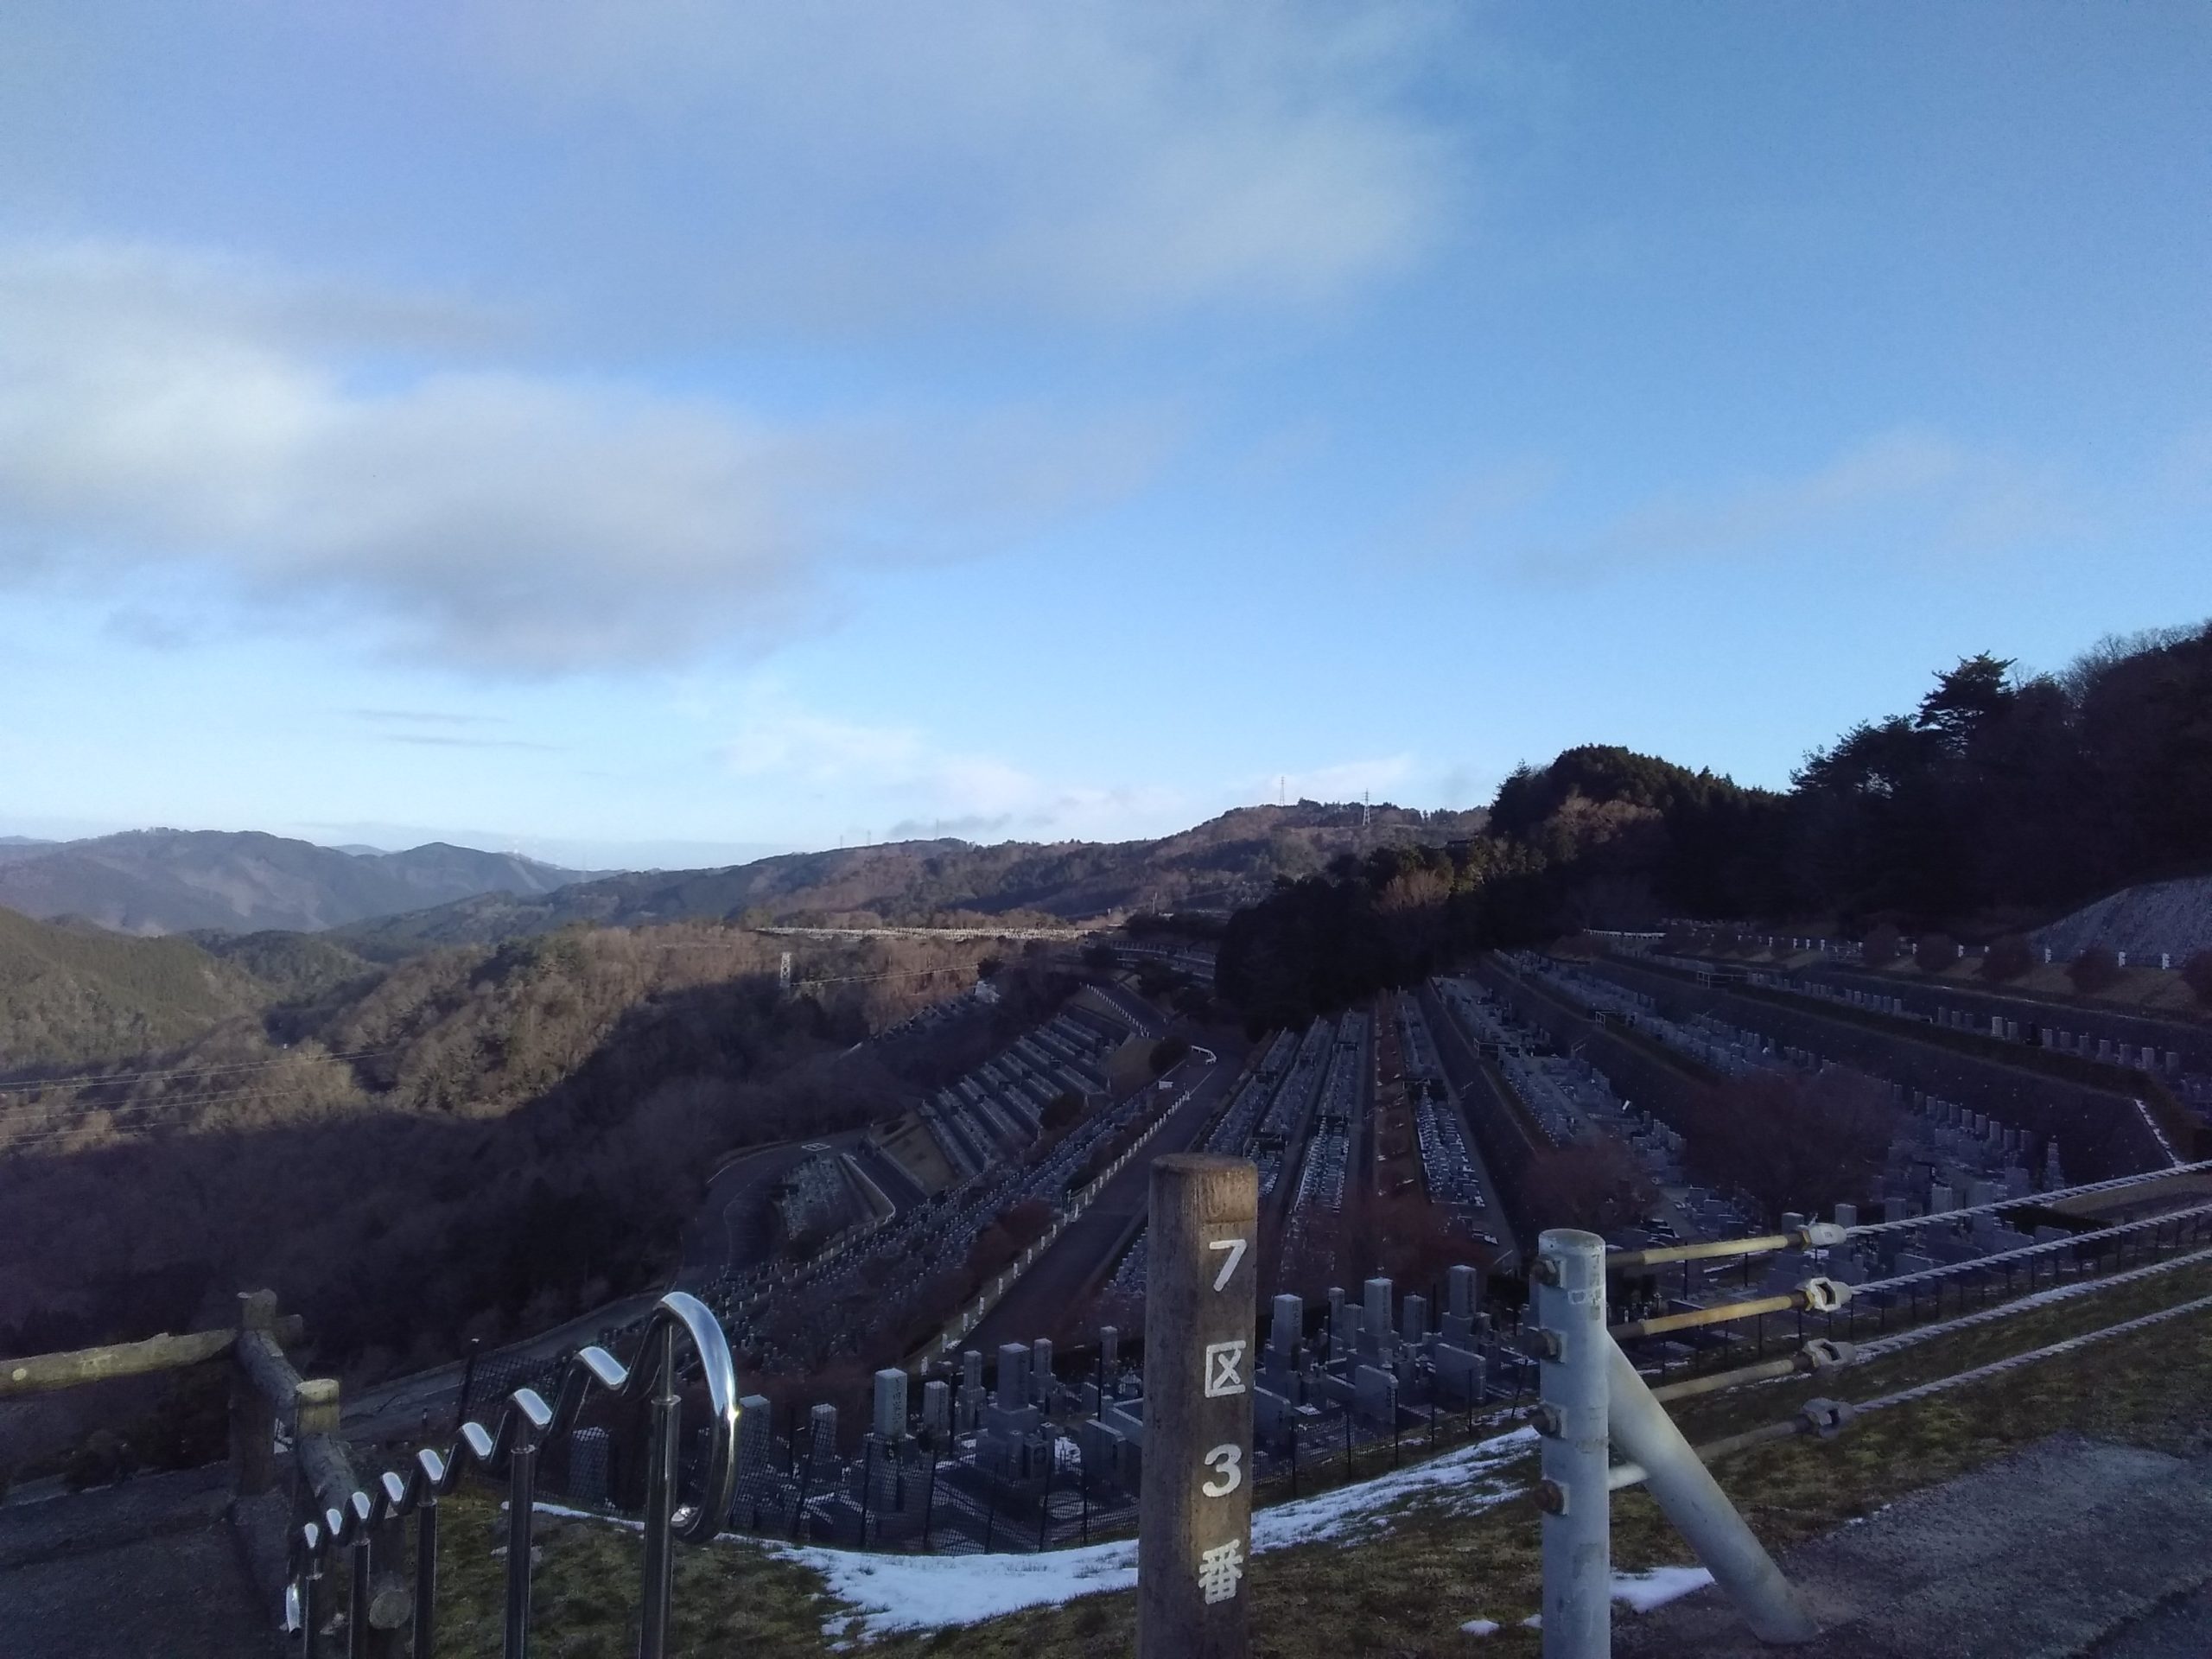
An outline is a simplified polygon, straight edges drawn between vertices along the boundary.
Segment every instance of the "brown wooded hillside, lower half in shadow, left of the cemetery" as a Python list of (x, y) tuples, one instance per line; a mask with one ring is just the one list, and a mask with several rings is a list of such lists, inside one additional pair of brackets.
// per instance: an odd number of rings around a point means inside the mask
[[(184, 940), (100, 945), (243, 978)], [(686, 925), (429, 951), (279, 1004), (299, 1029), (274, 1040), (232, 1018), (113, 1082), (0, 1095), (0, 1352), (186, 1329), (270, 1283), (323, 1363), (380, 1371), (653, 1283), (717, 1155), (898, 1108), (883, 1044), (854, 1044), (991, 949), (812, 947), (825, 982), (781, 995), (783, 945)], [(1000, 969), (1006, 1018), (1037, 975)]]

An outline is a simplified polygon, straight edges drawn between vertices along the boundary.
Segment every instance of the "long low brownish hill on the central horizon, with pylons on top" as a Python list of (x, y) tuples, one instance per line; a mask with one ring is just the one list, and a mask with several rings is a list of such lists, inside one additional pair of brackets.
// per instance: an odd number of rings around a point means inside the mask
[(1276, 876), (1310, 876), (1338, 854), (1444, 845), (1480, 827), (1480, 812), (1301, 801), (1239, 807), (1159, 841), (1009, 841), (995, 847), (894, 841), (728, 869), (608, 876), (542, 896), (482, 894), (347, 929), (347, 940), (372, 953), (394, 953), (571, 922), (1044, 925), (1137, 909), (1234, 909), (1263, 898)]

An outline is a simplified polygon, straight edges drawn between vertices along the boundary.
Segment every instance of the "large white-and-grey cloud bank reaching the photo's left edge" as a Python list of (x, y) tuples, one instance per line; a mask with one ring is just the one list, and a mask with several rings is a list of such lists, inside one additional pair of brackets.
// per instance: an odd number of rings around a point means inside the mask
[(204, 571), (493, 670), (818, 622), (856, 557), (987, 551), (1133, 487), (1141, 420), (776, 425), (451, 363), (458, 307), (164, 248), (0, 248), (0, 580)]

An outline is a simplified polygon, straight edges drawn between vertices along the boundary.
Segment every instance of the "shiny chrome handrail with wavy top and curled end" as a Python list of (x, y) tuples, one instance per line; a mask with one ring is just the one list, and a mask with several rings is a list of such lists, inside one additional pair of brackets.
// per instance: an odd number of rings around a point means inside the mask
[[(708, 1440), (708, 1467), (701, 1500), (697, 1504), (675, 1502), (675, 1402), (677, 1402), (677, 1354), (675, 1338), (686, 1336), (692, 1352), (699, 1356), (701, 1378), (706, 1383), (708, 1409), (712, 1413), (712, 1436)], [(661, 1480), (648, 1478), (648, 1511), (666, 1506), (666, 1515), (648, 1513), (648, 1579), (659, 1575), (664, 1582), (659, 1586), (661, 1601), (666, 1604), (666, 1548), (659, 1553), (653, 1548), (655, 1537), (666, 1540), (668, 1535), (681, 1537), (688, 1544), (701, 1544), (714, 1535), (730, 1513), (730, 1502), (737, 1495), (737, 1422), (739, 1422), (739, 1394), (737, 1394), (737, 1365), (730, 1358), (730, 1343), (721, 1332), (721, 1323), (714, 1318), (712, 1310), (697, 1296), (672, 1290), (653, 1305), (646, 1316), (644, 1332), (637, 1345), (637, 1358), (626, 1367), (604, 1347), (591, 1345), (577, 1349), (568, 1356), (562, 1367), (560, 1383), (553, 1389), (553, 1405), (546, 1405), (538, 1389), (515, 1389), (507, 1396), (507, 1405), (498, 1416), (498, 1425), (487, 1429), (482, 1422), (462, 1422), (453, 1436), (451, 1447), (440, 1455), (431, 1447), (422, 1447), (414, 1453), (414, 1460), (405, 1475), (398, 1471), (385, 1471), (378, 1480), (369, 1482), (369, 1489), (354, 1489), (338, 1500), (336, 1506), (323, 1506), (319, 1520), (305, 1522), (294, 1535), (303, 1571), (294, 1571), (294, 1590), (301, 1590), (303, 1579), (312, 1579), (321, 1573), (323, 1562), (334, 1548), (367, 1548), (369, 1533), (387, 1520), (403, 1520), (407, 1515), (418, 1515), (422, 1524), (422, 1568), (425, 1582), (434, 1582), (434, 1555), (436, 1555), (436, 1502), (451, 1493), (467, 1469), (476, 1464), (487, 1475), (511, 1475), (515, 1484), (518, 1535), (526, 1540), (526, 1511), (529, 1493), (535, 1486), (535, 1458), (542, 1447), (553, 1442), (557, 1436), (566, 1433), (577, 1416), (582, 1413), (586, 1400), (597, 1394), (608, 1394), (617, 1400), (641, 1400), (653, 1394), (655, 1385), (661, 1385), (657, 1400), (666, 1407), (655, 1416), (655, 1440), (650, 1464), (661, 1471)], [(518, 1467), (520, 1462), (520, 1467)], [(657, 1555), (657, 1559), (655, 1559)], [(515, 1615), (518, 1604), (513, 1601), (513, 1584), (520, 1575), (520, 1619), (526, 1624), (529, 1617), (529, 1548), (524, 1542), (522, 1559), (518, 1562), (513, 1553), (509, 1555), (509, 1650), (520, 1652), (515, 1644)], [(365, 1564), (356, 1557), (356, 1579), (365, 1575)], [(646, 1586), (648, 1601), (655, 1595), (653, 1584)], [(303, 1606), (312, 1608), (312, 1597), (301, 1590)], [(356, 1617), (365, 1613), (363, 1590), (356, 1584)], [(418, 1655), (427, 1655), (429, 1632), (429, 1608), (418, 1606)], [(312, 1615), (303, 1615), (303, 1621), (312, 1626)], [(664, 1613), (666, 1621), (666, 1613)], [(526, 1641), (526, 1635), (522, 1637)], [(312, 1644), (312, 1628), (310, 1628)], [(310, 1646), (312, 1650), (312, 1646)]]

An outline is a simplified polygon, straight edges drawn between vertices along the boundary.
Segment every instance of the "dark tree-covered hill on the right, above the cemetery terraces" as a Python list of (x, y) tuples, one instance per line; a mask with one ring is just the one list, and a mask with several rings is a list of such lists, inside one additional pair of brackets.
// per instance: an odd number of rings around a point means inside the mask
[(1504, 781), (1449, 852), (1383, 849), (1230, 922), (1254, 1022), (1340, 1006), (1491, 945), (1663, 918), (1989, 940), (2101, 894), (2212, 874), (2212, 626), (2064, 672), (1991, 655), (1814, 748), (1787, 792), (1588, 745)]

